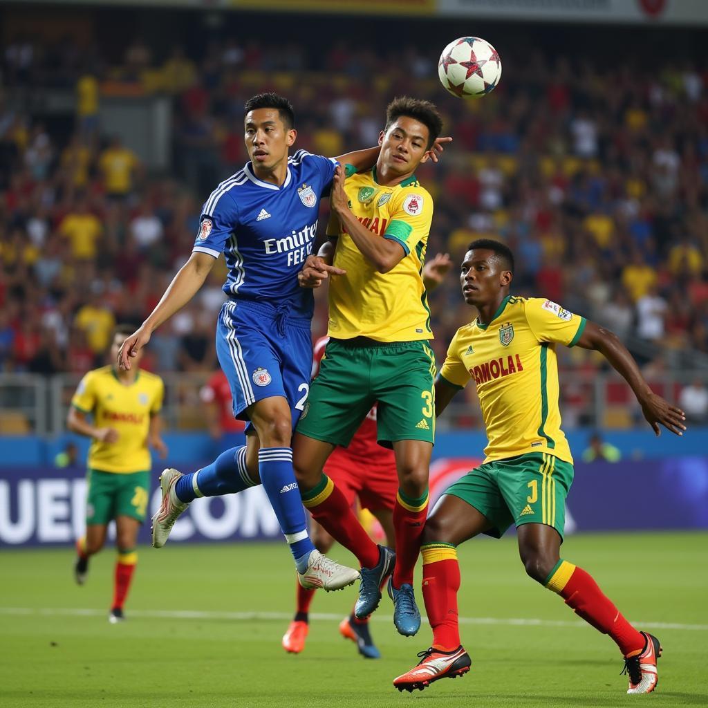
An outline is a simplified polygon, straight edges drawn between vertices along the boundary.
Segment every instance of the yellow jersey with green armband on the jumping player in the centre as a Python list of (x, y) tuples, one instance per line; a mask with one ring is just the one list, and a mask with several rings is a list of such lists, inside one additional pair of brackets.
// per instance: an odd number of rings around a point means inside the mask
[[(352, 169), (348, 165), (347, 173)], [(406, 255), (388, 273), (379, 273), (349, 234), (328, 229), (328, 235), (338, 236), (334, 265), (347, 271), (329, 283), (328, 335), (380, 342), (432, 339), (421, 273), (433, 199), (415, 175), (392, 187), (377, 184), (375, 168), (349, 176), (344, 190), (359, 221), (372, 234), (401, 244)]]

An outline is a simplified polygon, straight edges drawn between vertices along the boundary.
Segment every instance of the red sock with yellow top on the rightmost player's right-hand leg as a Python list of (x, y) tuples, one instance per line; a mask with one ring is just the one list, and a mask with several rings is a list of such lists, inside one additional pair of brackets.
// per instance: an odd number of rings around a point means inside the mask
[(603, 634), (609, 634), (624, 656), (644, 649), (644, 636), (624, 619), (598, 583), (582, 568), (561, 559), (544, 584), (558, 593), (578, 617)]

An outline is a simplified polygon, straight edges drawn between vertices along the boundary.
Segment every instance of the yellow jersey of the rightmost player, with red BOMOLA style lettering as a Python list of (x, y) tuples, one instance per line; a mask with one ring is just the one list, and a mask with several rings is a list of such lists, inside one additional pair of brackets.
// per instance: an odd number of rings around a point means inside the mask
[(574, 346), (586, 319), (541, 297), (512, 297), (489, 324), (460, 327), (440, 378), (463, 388), (472, 379), (488, 438), (486, 459), (547, 452), (572, 464), (561, 430), (556, 344)]

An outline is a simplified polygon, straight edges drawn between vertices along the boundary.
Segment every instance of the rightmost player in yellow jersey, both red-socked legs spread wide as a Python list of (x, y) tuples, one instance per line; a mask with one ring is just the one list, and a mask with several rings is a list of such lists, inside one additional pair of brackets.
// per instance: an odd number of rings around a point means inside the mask
[(422, 690), (469, 670), (459, 641), (457, 546), (479, 534), (499, 538), (515, 524), (528, 575), (609, 634), (624, 655), (627, 692), (648, 693), (657, 683), (658, 639), (634, 629), (586, 571), (560, 556), (573, 457), (561, 430), (556, 346), (600, 352), (632, 388), (656, 435), (660, 424), (682, 435), (685, 415), (651, 392), (614, 333), (550, 300), (510, 295), (513, 271), (511, 251), (491, 239), (470, 244), (462, 262), (462, 295), (478, 315), (447, 350), (435, 382), (435, 415), (472, 379), (489, 444), (484, 463), (447, 489), (426, 523), (423, 598), (433, 646), (394, 686)]

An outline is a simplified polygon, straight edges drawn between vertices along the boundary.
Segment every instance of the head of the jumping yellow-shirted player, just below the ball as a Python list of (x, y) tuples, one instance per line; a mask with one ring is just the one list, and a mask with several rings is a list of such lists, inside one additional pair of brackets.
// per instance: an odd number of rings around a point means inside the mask
[(430, 101), (399, 96), (386, 109), (386, 127), (379, 135), (379, 161), (394, 173), (415, 171), (442, 130), (442, 118)]

